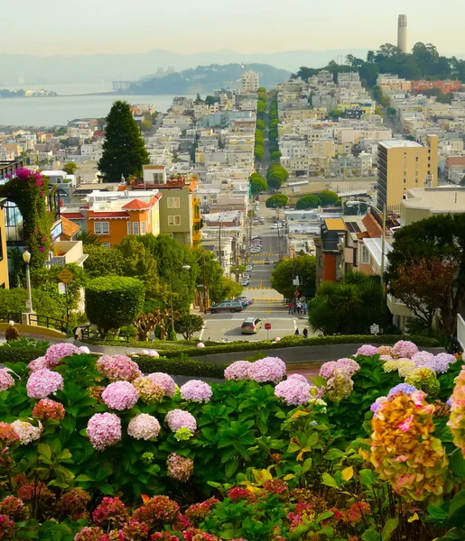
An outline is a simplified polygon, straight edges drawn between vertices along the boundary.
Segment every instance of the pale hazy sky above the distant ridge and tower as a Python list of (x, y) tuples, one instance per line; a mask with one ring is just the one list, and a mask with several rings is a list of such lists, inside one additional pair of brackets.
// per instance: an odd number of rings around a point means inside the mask
[(377, 49), (398, 14), (410, 47), (465, 53), (464, 0), (0, 0), (0, 13), (0, 54)]

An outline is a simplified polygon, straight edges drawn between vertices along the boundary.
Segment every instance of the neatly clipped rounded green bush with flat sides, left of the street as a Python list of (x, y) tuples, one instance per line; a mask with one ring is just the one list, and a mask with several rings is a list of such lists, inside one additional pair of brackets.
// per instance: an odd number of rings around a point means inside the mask
[(88, 282), (86, 314), (100, 331), (131, 325), (144, 309), (144, 282), (122, 276), (103, 276)]

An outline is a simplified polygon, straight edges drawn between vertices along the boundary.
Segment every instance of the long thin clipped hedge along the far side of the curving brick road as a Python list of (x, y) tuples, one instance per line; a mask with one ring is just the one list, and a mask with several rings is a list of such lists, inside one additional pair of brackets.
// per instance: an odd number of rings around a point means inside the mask
[[(395, 344), (398, 340), (411, 340), (421, 347), (440, 347), (441, 343), (436, 338), (427, 336), (402, 336), (402, 335), (337, 335), (337, 336), (311, 336), (303, 338), (302, 336), (284, 336), (279, 344), (275, 344), (271, 340), (262, 342), (231, 342), (229, 344), (214, 344), (206, 345), (202, 349), (198, 347), (183, 347), (176, 348), (172, 351), (163, 349), (163, 356), (167, 359), (180, 357), (182, 355), (198, 357), (204, 355), (212, 355), (215, 353), (231, 353), (231, 352), (248, 352), (258, 350), (276, 349), (279, 347), (302, 347), (303, 345), (335, 345), (335, 344)], [(91, 341), (92, 344), (114, 345), (102, 341)], [(148, 342), (123, 342), (123, 347), (134, 348), (153, 348), (157, 349), (157, 344), (163, 347), (162, 343)], [(355, 353), (355, 352), (354, 352)]]

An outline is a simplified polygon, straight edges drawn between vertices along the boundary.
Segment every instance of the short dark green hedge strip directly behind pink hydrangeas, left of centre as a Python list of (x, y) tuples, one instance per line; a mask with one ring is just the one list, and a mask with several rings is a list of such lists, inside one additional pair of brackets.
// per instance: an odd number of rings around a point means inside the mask
[(221, 380), (224, 377), (226, 368), (224, 364), (201, 362), (195, 359), (177, 358), (176, 361), (171, 361), (167, 358), (149, 357), (148, 355), (134, 357), (134, 361), (137, 362), (144, 373), (162, 371), (172, 376), (197, 376), (199, 378), (219, 378)]

